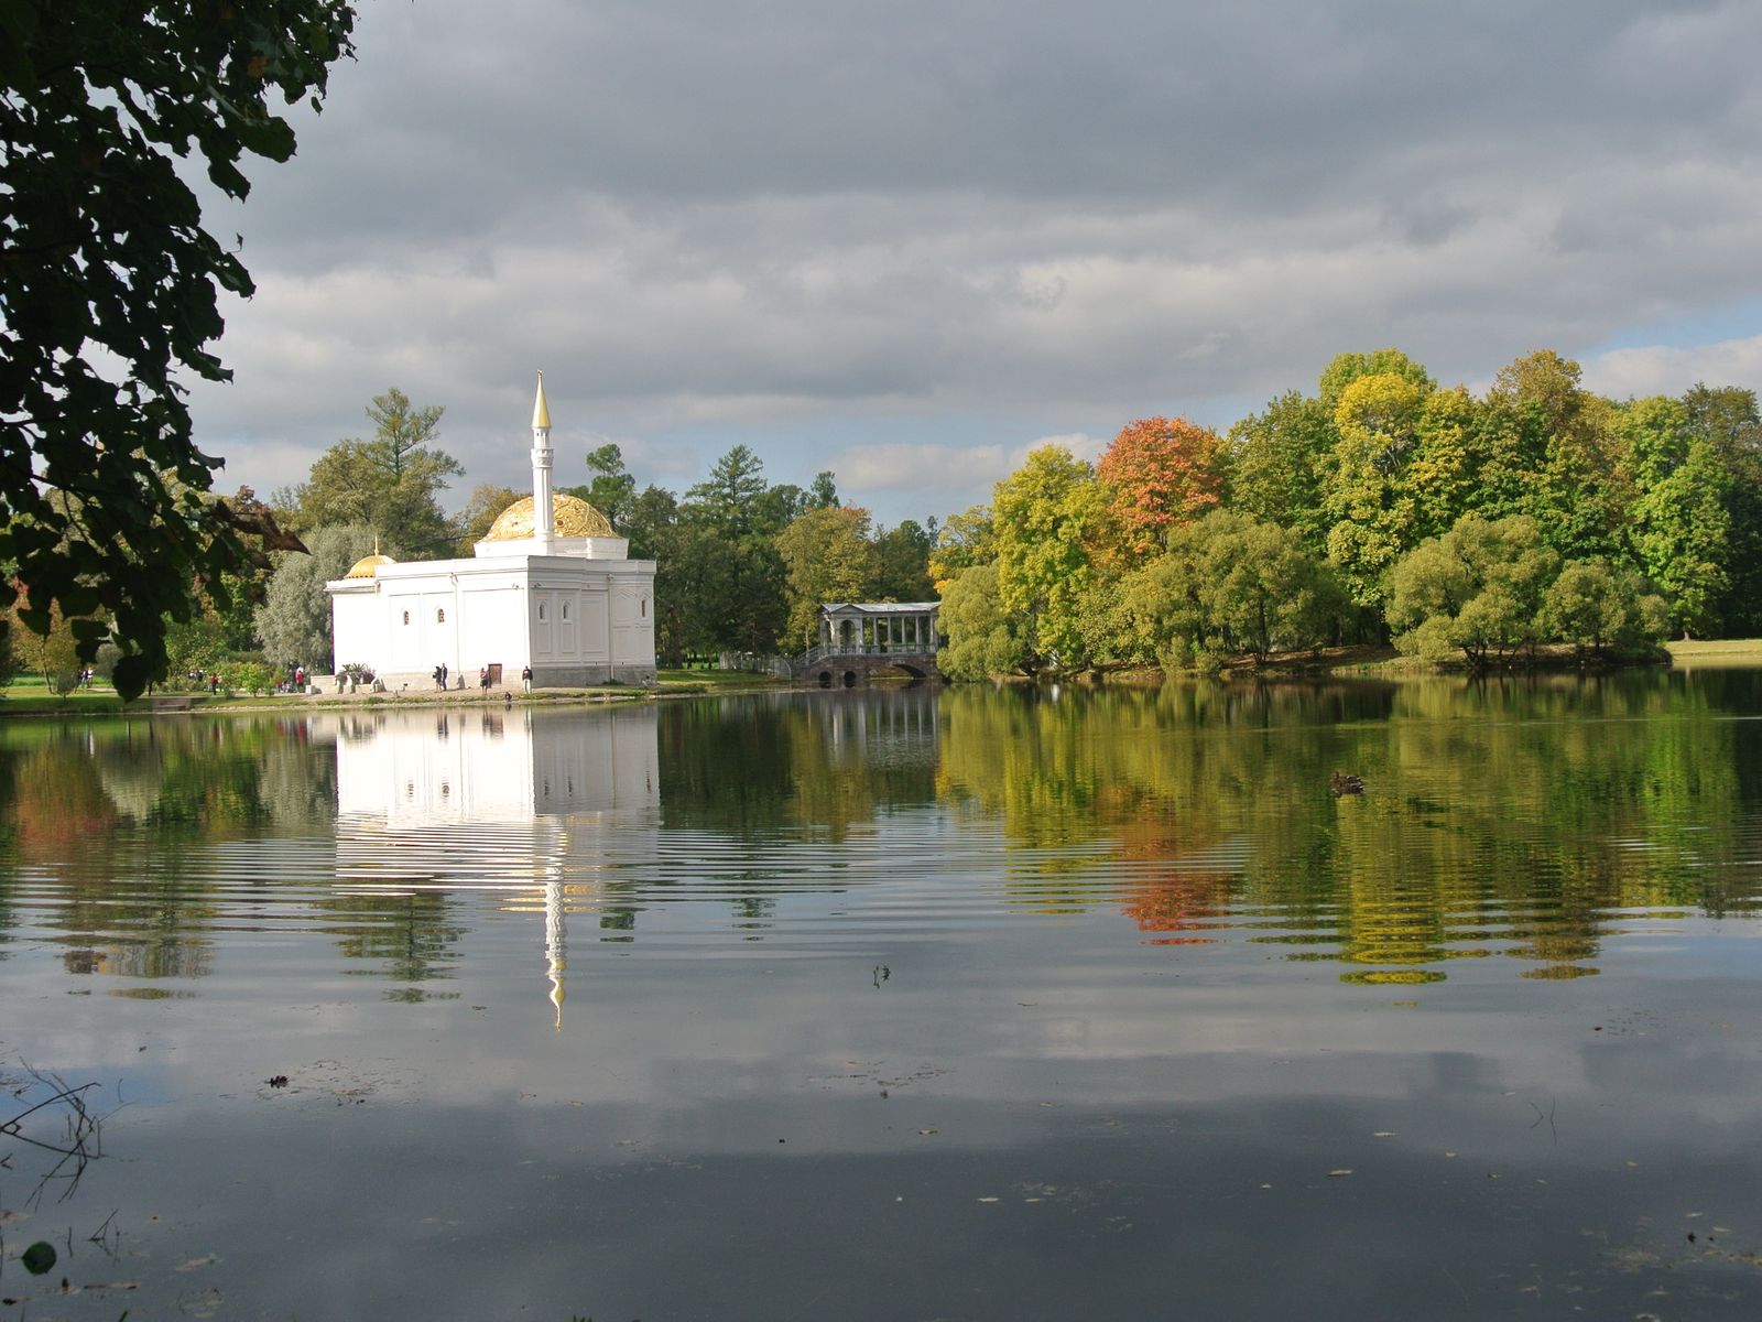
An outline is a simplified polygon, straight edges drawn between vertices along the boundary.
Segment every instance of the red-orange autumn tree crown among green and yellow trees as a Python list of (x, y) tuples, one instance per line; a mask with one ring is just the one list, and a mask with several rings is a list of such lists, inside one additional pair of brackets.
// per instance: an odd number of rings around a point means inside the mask
[(1223, 437), (1186, 418), (1140, 418), (1114, 437), (1096, 476), (1133, 553), (1152, 552), (1170, 527), (1218, 504), (1223, 453)]

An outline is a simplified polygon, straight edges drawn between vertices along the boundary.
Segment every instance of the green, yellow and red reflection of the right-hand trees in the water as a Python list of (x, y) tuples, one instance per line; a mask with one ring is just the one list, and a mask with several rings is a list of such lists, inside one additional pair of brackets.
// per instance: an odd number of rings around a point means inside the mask
[[(1003, 821), (1034, 910), (1117, 902), (1142, 931), (1221, 925), (1351, 982), (1427, 982), (1510, 954), (1595, 973), (1621, 908), (1720, 913), (1762, 774), (1757, 677), (1625, 673), (1161, 693), (960, 689), (939, 791)], [(1371, 791), (1334, 798), (1332, 770)], [(1158, 873), (1158, 862), (1177, 867)], [(1210, 860), (1210, 862), (1207, 862)], [(1145, 878), (1145, 869), (1151, 876)]]

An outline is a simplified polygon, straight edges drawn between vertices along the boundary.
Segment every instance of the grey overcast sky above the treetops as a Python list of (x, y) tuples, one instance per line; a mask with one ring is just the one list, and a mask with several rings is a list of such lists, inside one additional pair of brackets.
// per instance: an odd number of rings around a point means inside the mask
[(617, 441), (673, 490), (745, 442), (886, 524), (1045, 437), (1216, 427), (1397, 345), (1484, 388), (1762, 386), (1762, 5), (1653, 0), (363, 0), (259, 162), (222, 485), (398, 386), (448, 494)]

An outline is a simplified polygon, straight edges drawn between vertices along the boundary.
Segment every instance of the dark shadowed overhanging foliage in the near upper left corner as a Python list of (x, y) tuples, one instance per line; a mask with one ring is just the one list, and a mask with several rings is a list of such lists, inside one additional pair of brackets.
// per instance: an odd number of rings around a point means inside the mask
[(342, 0), (0, 5), (0, 606), (21, 585), (23, 628), (69, 617), (81, 661), (109, 613), (127, 696), (164, 673), (194, 578), (285, 543), (264, 506), (210, 495), (220, 460), (192, 435), (181, 381), (231, 375), (217, 294), (252, 282), (180, 159), (243, 199), (241, 157), (294, 152), (271, 93), (317, 106), (352, 25)]

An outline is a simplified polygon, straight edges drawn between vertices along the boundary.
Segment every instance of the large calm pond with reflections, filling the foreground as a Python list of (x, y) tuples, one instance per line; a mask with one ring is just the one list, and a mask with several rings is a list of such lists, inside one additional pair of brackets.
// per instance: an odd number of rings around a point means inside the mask
[(1753, 1318), (1758, 717), (4, 723), (0, 1320)]

